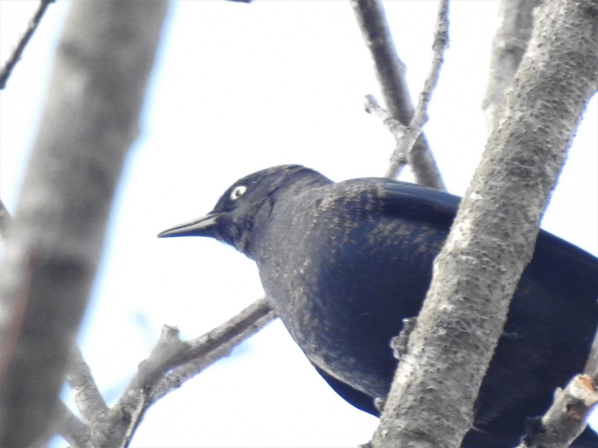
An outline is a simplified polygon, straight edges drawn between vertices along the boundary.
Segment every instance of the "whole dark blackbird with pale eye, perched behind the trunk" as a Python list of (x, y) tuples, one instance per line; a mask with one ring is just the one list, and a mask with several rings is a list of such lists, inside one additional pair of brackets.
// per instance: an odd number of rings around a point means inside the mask
[[(379, 415), (397, 361), (390, 339), (419, 312), (459, 197), (301, 165), (238, 180), (206, 216), (160, 237), (212, 237), (255, 260), (276, 314), (345, 400)], [(475, 402), (463, 447), (512, 447), (527, 417), (583, 370), (598, 323), (598, 259), (540, 231)], [(590, 428), (573, 444), (598, 447)]]

